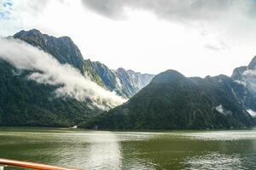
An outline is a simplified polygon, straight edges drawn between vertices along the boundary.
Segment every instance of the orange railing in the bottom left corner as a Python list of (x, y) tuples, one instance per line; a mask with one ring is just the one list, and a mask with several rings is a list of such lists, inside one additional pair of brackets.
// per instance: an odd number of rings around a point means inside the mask
[(15, 161), (15, 160), (9, 160), (9, 159), (1, 159), (0, 158), (0, 167), (1, 165), (3, 167), (10, 166), (10, 167), (26, 167), (31, 169), (38, 169), (38, 170), (76, 170), (76, 169), (70, 169), (65, 167), (55, 167), (51, 165), (46, 165), (42, 163), (34, 163), (29, 161)]

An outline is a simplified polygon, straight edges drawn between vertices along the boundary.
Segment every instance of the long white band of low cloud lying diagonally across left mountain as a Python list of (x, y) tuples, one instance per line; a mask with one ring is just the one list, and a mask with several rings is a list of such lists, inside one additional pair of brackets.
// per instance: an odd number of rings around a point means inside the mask
[(26, 42), (0, 37), (0, 46), (0, 59), (17, 69), (32, 71), (29, 80), (60, 86), (54, 92), (57, 97), (68, 96), (79, 101), (90, 99), (93, 105), (104, 110), (125, 102), (125, 99), (86, 79), (71, 65), (61, 65), (50, 54)]

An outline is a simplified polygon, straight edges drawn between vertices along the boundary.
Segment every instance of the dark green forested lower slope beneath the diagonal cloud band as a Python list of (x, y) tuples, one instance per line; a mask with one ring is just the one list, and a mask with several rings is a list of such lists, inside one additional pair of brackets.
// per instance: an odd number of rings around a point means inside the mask
[(0, 125), (68, 127), (102, 112), (90, 101), (56, 98), (55, 86), (28, 81), (28, 74), (0, 59)]

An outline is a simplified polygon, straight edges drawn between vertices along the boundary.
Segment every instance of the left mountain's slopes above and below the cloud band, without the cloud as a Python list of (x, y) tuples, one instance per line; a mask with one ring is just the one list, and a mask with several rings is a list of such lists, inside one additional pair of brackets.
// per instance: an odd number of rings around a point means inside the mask
[[(52, 37), (33, 29), (20, 31), (13, 38), (42, 49), (61, 64), (72, 65), (92, 82), (125, 98), (130, 98), (142, 88), (132, 87), (134, 84), (129, 84), (131, 82), (120, 84), (119, 79), (122, 77), (118, 77), (116, 71), (100, 62), (84, 60), (70, 37)], [(0, 59), (0, 125), (68, 127), (87, 122), (105, 111), (90, 99), (81, 101), (68, 96), (57, 97), (54, 92), (60, 85), (32, 81), (28, 77), (34, 72), (17, 69), (8, 61)], [(143, 77), (140, 83), (146, 84), (149, 79), (150, 76), (146, 79)], [(125, 86), (136, 90), (128, 93)]]

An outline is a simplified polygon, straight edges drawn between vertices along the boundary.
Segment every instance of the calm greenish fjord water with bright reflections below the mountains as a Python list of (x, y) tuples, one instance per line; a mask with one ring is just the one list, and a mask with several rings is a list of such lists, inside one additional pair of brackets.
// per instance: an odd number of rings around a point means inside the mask
[(256, 129), (108, 132), (1, 127), (0, 157), (96, 170), (255, 169)]

